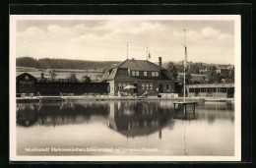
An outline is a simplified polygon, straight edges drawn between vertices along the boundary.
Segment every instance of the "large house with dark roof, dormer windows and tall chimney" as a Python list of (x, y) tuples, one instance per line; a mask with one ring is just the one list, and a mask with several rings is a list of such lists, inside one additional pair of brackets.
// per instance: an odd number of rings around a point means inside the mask
[(160, 65), (148, 60), (127, 59), (109, 68), (102, 81), (109, 83), (109, 91), (113, 95), (120, 92), (128, 92), (131, 95), (174, 92), (174, 79), (161, 67), (161, 58)]

